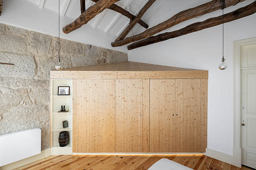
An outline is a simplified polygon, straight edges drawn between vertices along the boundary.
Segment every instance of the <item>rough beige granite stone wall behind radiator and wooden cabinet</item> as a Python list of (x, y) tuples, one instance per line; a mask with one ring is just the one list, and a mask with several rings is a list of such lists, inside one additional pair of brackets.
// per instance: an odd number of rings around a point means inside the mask
[[(58, 61), (58, 38), (0, 23), (0, 134), (42, 129), (50, 147), (50, 71)], [(61, 39), (64, 68), (127, 61), (127, 54)]]

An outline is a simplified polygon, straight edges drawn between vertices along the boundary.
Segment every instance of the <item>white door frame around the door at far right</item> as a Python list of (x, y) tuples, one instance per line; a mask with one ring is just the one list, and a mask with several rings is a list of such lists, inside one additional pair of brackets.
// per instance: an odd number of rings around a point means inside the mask
[(234, 161), (239, 167), (242, 166), (242, 149), (241, 149), (241, 73), (240, 59), (241, 47), (256, 43), (256, 37), (234, 41), (233, 44), (233, 73), (234, 73), (234, 139), (233, 139), (233, 156)]

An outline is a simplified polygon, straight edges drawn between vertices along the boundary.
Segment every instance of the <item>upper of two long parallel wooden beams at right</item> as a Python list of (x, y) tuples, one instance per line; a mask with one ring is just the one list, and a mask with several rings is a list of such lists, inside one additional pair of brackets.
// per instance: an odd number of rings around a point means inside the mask
[[(226, 7), (234, 6), (235, 4), (243, 1), (245, 0), (225, 0), (225, 6)], [(181, 11), (175, 14), (173, 17), (169, 18), (168, 20), (160, 24), (157, 24), (152, 28), (146, 29), (144, 32), (140, 34), (137, 34), (132, 37), (127, 37), (120, 41), (112, 42), (112, 47), (123, 46), (131, 42), (139, 41), (141, 39), (153, 36), (156, 33), (164, 31), (165, 29), (173, 27), (176, 24), (187, 21), (191, 18), (200, 17), (206, 13), (210, 13), (218, 9), (221, 9), (222, 8), (221, 2), (222, 2), (221, 0), (213, 0), (208, 3), (201, 4), (200, 6), (186, 9), (185, 11)]]

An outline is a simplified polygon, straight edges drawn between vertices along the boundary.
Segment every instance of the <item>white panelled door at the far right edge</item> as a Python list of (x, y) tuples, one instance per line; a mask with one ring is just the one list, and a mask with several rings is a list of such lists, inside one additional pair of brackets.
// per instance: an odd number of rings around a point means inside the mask
[(256, 44), (241, 48), (242, 164), (256, 168)]

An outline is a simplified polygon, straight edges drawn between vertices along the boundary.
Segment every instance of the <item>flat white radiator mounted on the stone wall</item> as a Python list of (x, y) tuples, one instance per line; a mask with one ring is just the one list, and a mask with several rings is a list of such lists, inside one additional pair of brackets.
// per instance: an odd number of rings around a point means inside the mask
[(41, 153), (41, 129), (0, 135), (0, 167)]

